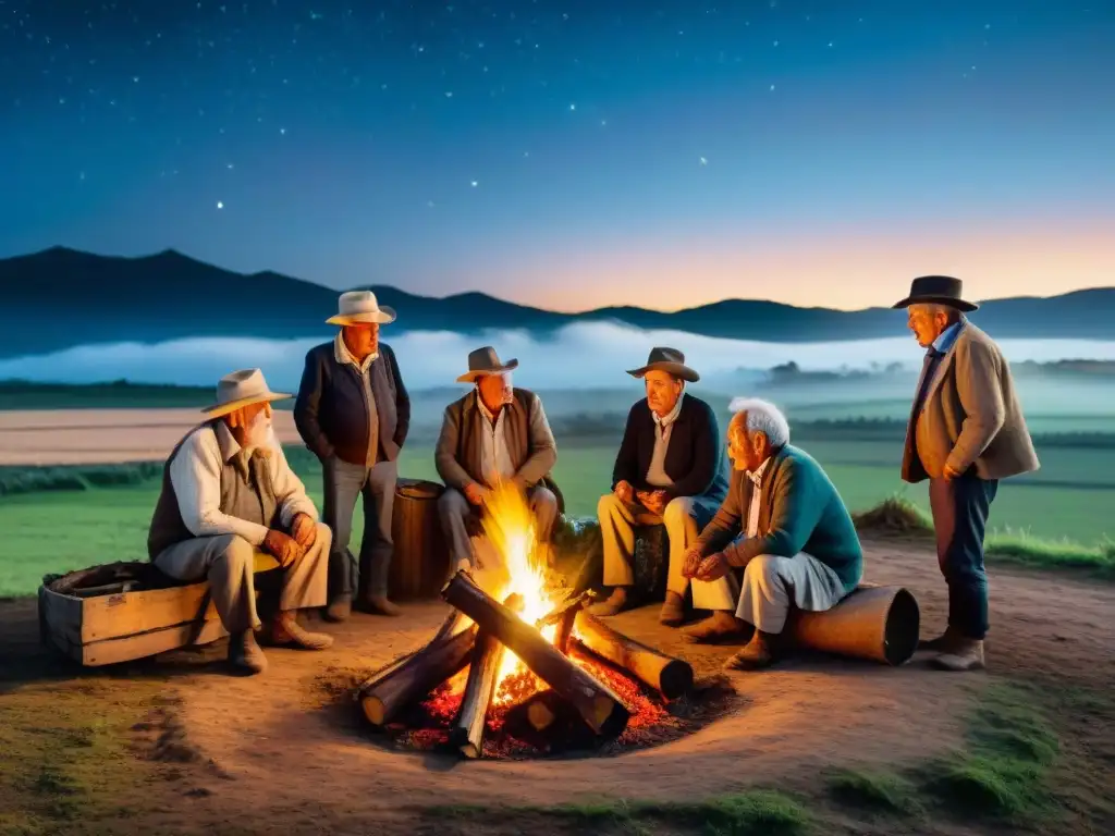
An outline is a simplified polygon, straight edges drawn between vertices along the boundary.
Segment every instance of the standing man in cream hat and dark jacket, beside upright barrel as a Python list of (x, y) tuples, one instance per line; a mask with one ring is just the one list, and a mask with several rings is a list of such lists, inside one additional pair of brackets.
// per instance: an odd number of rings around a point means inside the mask
[[(410, 427), (410, 397), (379, 327), (395, 321), (370, 290), (341, 293), (339, 311), (326, 320), (337, 337), (310, 349), (294, 404), (302, 440), (321, 460), (326, 523), (333, 532), (326, 618), (343, 621), (353, 594), (380, 615), (400, 610), (387, 597), (394, 552), (391, 512), (399, 449)], [(360, 561), (349, 551), (352, 512), (363, 496)]]

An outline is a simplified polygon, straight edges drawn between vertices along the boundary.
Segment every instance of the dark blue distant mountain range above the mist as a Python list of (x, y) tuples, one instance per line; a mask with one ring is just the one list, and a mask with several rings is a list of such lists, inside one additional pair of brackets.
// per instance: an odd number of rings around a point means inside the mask
[[(836, 311), (731, 299), (675, 312), (636, 307), (559, 313), (483, 293), (442, 299), (372, 285), (395, 308), (395, 329), (525, 329), (542, 334), (574, 322), (610, 321), (707, 337), (825, 342), (905, 334), (889, 308)], [(906, 290), (894, 286), (895, 299)], [(52, 247), (0, 260), (0, 358), (86, 343), (159, 342), (186, 337), (328, 338), (338, 291), (274, 272), (244, 275), (167, 250), (142, 257)], [(1115, 339), (1115, 288), (1047, 299), (986, 302), (972, 321), (998, 338)]]

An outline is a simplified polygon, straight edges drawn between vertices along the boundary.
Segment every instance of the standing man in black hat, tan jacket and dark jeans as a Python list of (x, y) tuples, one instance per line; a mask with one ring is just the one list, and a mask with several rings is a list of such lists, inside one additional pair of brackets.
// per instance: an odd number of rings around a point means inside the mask
[(929, 479), (937, 557), (949, 586), (948, 629), (920, 647), (939, 651), (938, 667), (958, 671), (983, 667), (983, 536), (999, 479), (1038, 469), (1010, 364), (963, 315), (978, 305), (961, 290), (959, 279), (924, 275), (894, 304), (906, 309), (910, 330), (925, 349), (902, 478)]

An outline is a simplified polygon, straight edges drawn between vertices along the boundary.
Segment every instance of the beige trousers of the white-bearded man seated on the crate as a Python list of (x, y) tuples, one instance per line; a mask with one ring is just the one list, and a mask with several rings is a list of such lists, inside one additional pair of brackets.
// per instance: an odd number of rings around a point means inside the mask
[[(332, 533), (318, 523), (318, 536), (300, 560), (283, 573), (279, 609), (324, 606)], [(207, 580), (221, 623), (232, 634), (261, 626), (255, 612), (253, 567), (255, 548), (236, 534), (193, 537), (169, 546), (155, 557), (163, 574), (184, 583)]]

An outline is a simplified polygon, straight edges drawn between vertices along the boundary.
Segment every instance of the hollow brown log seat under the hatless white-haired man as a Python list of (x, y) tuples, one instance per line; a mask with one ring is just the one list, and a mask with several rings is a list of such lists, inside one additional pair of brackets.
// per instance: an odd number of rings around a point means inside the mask
[(918, 649), (920, 626), (918, 600), (908, 590), (867, 584), (831, 610), (793, 610), (786, 623), (799, 647), (895, 667)]

